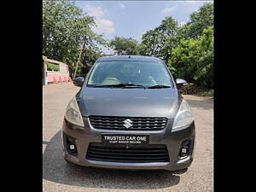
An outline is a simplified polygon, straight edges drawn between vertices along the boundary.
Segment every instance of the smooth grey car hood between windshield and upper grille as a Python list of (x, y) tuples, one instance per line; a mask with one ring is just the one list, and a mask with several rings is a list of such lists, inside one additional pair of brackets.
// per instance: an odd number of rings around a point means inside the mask
[(173, 119), (180, 104), (176, 89), (83, 87), (79, 108), (83, 116), (166, 117)]

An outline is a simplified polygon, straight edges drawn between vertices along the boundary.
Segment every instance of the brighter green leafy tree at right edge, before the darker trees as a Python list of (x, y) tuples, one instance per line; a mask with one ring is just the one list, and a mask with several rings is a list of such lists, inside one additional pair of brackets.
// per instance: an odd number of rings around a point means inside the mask
[(201, 38), (181, 39), (171, 55), (167, 65), (175, 77), (213, 87), (213, 26), (204, 29)]

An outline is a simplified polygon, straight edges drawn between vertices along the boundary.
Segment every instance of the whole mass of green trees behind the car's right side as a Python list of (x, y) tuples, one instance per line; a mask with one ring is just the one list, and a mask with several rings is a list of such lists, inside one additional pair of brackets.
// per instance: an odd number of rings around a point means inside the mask
[(166, 61), (176, 78), (213, 87), (213, 4), (205, 3), (190, 15), (190, 21), (177, 26), (172, 17), (143, 34), (140, 55)]

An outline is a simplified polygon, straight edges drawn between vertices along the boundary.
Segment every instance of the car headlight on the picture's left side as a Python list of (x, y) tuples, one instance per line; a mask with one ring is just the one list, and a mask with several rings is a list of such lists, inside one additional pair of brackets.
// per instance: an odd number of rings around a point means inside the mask
[(73, 123), (74, 125), (79, 125), (84, 127), (83, 117), (81, 115), (79, 105), (75, 96), (67, 105), (65, 118), (67, 119), (67, 121), (69, 121), (70, 123)]

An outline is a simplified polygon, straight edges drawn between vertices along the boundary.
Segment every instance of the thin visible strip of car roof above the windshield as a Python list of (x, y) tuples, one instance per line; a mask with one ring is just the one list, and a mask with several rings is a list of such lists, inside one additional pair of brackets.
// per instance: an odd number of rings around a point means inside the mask
[(141, 55), (112, 55), (103, 56), (98, 61), (156, 61), (162, 62), (159, 58), (153, 56), (141, 56)]

